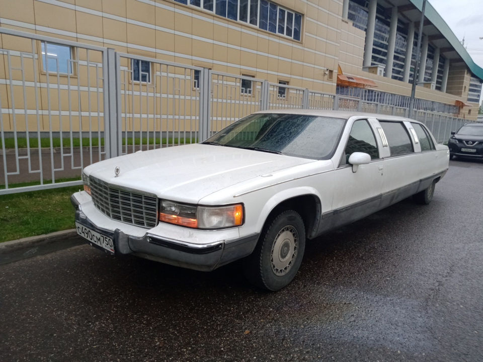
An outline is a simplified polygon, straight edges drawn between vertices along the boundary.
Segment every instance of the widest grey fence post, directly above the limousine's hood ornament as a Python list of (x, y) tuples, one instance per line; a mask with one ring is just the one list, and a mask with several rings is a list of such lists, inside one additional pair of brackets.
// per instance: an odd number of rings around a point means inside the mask
[[(116, 51), (107, 48), (103, 52), (103, 97), (104, 97), (104, 149), (106, 158), (117, 157), (121, 154), (120, 113), (118, 112), (118, 96), (120, 95), (117, 78), (118, 64)], [(120, 106), (120, 105), (119, 105)]]

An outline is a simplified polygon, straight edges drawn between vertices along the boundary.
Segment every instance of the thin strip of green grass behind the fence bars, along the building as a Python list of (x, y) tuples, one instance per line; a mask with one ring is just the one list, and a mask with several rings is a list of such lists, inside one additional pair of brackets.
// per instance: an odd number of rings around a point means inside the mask
[[(93, 146), (99, 146), (99, 138), (97, 138), (97, 134), (93, 132), (93, 138), (92, 138), (92, 145)], [(87, 135), (86, 135), (87, 136)], [(135, 137), (134, 138), (134, 144), (139, 145), (141, 143), (145, 145), (148, 142), (147, 137)], [(149, 137), (149, 144), (153, 144), (155, 141), (156, 144), (160, 144), (159, 142), (162, 142), (162, 144), (185, 144), (185, 143), (196, 143), (197, 139), (196, 138), (172, 138), (172, 137), (163, 137), (163, 138), (156, 138), (154, 139), (153, 137)], [(126, 140), (123, 138), (122, 139), (122, 144), (126, 144)], [(133, 144), (133, 139), (132, 137), (127, 139), (127, 144), (132, 145)], [(39, 142), (37, 138), (29, 138), (29, 145), (31, 148), (38, 148)], [(79, 147), (81, 145), (81, 139), (80, 138), (73, 138), (72, 139), (72, 146), (73, 147)], [(82, 145), (84, 147), (90, 146), (90, 139), (88, 137), (82, 139)], [(55, 137), (52, 138), (52, 147), (60, 147), (60, 137)], [(104, 138), (101, 138), (101, 146), (104, 146)], [(27, 138), (26, 137), (18, 137), (17, 138), (17, 147), (19, 148), (27, 148)], [(41, 138), (40, 139), (40, 147), (50, 147), (50, 138)], [(62, 147), (70, 147), (70, 138), (62, 138)], [(2, 148), (2, 140), (0, 139), (0, 148)], [(5, 139), (5, 148), (15, 148), (15, 139), (14, 138), (6, 138)]]

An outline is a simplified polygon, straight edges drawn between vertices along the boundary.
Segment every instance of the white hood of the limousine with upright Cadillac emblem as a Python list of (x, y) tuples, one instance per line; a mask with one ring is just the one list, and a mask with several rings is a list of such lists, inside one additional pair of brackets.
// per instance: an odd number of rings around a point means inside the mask
[[(88, 176), (159, 198), (197, 203), (216, 191), (313, 159), (193, 144), (136, 152), (85, 168)], [(115, 169), (119, 167), (119, 175)]]

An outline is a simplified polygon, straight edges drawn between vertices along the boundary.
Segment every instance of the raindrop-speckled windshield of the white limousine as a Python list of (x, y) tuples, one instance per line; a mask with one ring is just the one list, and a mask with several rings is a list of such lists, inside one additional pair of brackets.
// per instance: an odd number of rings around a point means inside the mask
[(203, 143), (328, 159), (345, 121), (299, 114), (254, 114), (229, 125)]

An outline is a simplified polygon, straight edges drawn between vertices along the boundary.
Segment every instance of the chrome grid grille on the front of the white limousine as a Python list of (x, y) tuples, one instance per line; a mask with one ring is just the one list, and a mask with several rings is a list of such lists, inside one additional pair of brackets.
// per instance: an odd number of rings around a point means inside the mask
[(157, 198), (121, 190), (90, 177), (94, 206), (113, 220), (152, 228), (157, 223)]

